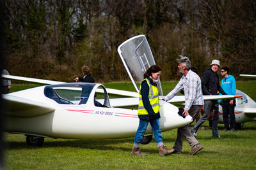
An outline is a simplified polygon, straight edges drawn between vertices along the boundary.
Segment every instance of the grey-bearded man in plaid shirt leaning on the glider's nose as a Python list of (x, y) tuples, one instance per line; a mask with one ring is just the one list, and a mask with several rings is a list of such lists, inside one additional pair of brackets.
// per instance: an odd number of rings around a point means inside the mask
[[(180, 90), (184, 89), (185, 94), (185, 108), (183, 114), (185, 116), (191, 115), (195, 119), (204, 105), (204, 98), (202, 96), (201, 80), (198, 74), (191, 71), (191, 62), (188, 57), (180, 56), (179, 71), (183, 74), (179, 83), (175, 88), (163, 98), (164, 101), (169, 101), (176, 96)], [(175, 145), (172, 148), (172, 153), (182, 153), (183, 139), (186, 138), (191, 146), (191, 152), (189, 155), (195, 155), (198, 151), (202, 150), (203, 146), (198, 143), (195, 136), (193, 136), (189, 130), (189, 124), (179, 127), (177, 129), (177, 138)]]

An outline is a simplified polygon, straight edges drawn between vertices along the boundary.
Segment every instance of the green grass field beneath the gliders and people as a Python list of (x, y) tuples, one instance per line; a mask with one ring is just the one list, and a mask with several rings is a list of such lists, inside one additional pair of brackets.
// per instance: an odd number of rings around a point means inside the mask
[[(166, 95), (176, 83), (163, 82)], [(108, 83), (109, 88), (134, 91), (131, 83)], [(12, 91), (33, 85), (13, 85)], [(256, 101), (256, 81), (237, 82), (242, 90)], [(184, 141), (182, 155), (159, 157), (154, 139), (141, 150), (147, 157), (131, 156), (133, 138), (113, 140), (75, 140), (45, 138), (42, 147), (26, 145), (24, 135), (5, 133), (7, 169), (256, 169), (256, 122), (248, 122), (240, 131), (222, 131), (223, 139), (211, 138), (212, 132), (205, 122), (205, 130), (198, 131), (198, 141), (204, 146), (195, 156)], [(177, 130), (163, 132), (164, 144), (172, 148)]]

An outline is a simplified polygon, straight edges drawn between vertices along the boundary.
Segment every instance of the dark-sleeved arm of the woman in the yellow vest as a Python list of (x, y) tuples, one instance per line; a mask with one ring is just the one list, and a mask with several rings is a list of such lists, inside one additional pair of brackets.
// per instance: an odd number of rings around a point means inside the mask
[(149, 87), (146, 81), (143, 81), (141, 83), (141, 97), (142, 97), (142, 102), (143, 102), (143, 106), (145, 107), (145, 109), (148, 112), (148, 115), (154, 115), (155, 112), (152, 109), (152, 106), (150, 105), (149, 99), (148, 99), (148, 92), (149, 92)]

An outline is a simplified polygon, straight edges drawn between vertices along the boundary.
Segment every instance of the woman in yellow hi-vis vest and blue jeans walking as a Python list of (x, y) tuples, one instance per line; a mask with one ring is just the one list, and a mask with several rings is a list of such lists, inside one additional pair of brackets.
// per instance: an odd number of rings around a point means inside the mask
[(140, 143), (143, 135), (147, 129), (148, 123), (152, 127), (154, 138), (156, 139), (159, 148), (159, 155), (164, 156), (171, 153), (163, 144), (163, 137), (161, 135), (161, 127), (159, 124), (159, 98), (157, 90), (157, 80), (161, 74), (161, 67), (154, 65), (147, 69), (144, 74), (144, 80), (140, 86), (140, 102), (138, 106), (138, 117), (140, 124), (134, 136), (134, 146), (131, 155), (147, 156), (146, 153), (140, 151)]

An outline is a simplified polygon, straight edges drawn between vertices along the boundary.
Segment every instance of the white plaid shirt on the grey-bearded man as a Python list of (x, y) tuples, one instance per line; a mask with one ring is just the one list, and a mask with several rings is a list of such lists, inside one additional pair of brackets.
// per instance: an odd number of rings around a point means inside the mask
[(167, 94), (167, 96), (164, 97), (164, 100), (169, 101), (174, 96), (176, 96), (182, 89), (184, 89), (185, 94), (184, 109), (189, 111), (192, 105), (204, 105), (201, 80), (196, 73), (189, 70), (186, 76), (183, 75), (175, 88), (169, 94)]

